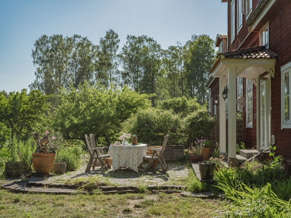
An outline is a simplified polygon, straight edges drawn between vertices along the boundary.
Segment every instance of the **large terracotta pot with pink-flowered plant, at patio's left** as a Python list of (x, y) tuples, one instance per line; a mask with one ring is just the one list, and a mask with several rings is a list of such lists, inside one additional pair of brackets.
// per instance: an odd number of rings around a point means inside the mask
[(52, 150), (53, 136), (49, 136), (49, 131), (46, 131), (42, 139), (39, 138), (38, 133), (33, 133), (32, 137), (37, 144), (35, 153), (32, 153), (33, 168), (36, 173), (48, 174), (53, 169), (56, 156)]

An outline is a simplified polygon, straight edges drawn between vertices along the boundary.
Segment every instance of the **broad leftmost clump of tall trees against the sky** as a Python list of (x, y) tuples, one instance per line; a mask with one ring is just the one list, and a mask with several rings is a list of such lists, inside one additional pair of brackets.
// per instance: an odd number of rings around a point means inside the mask
[(36, 79), (29, 86), (45, 94), (58, 94), (61, 87), (75, 88), (84, 81), (93, 83), (97, 47), (80, 35), (43, 35), (32, 50)]

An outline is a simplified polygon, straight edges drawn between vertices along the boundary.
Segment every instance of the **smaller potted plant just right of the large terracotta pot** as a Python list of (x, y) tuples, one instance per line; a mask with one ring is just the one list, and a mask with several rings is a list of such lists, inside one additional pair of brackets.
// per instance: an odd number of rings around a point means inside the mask
[(63, 148), (64, 138), (60, 132), (55, 132), (54, 136), (51, 137), (52, 141), (52, 149), (56, 152), (57, 155), (57, 163), (54, 163), (53, 171), (57, 174), (64, 174), (66, 170), (65, 162), (60, 163), (59, 153)]

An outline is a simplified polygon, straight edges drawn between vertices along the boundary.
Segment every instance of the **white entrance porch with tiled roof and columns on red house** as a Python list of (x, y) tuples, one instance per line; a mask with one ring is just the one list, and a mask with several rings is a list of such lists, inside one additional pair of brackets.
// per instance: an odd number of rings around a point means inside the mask
[[(228, 161), (230, 160), (232, 163), (238, 162), (236, 160), (236, 110), (237, 110), (237, 78), (248, 78), (250, 79), (254, 85), (257, 86), (257, 116), (259, 117), (259, 113), (261, 109), (259, 108), (259, 88), (261, 85), (264, 85), (264, 95), (262, 95), (263, 104), (266, 107), (264, 108), (263, 114), (267, 114), (266, 120), (264, 123), (259, 123), (259, 119), (257, 119), (257, 148), (259, 148), (260, 140), (262, 139), (259, 135), (260, 131), (266, 132), (264, 137), (266, 139), (271, 137), (271, 81), (270, 77), (275, 76), (275, 62), (276, 62), (276, 54), (272, 51), (268, 50), (266, 55), (266, 50), (261, 48), (264, 47), (256, 47), (256, 48), (248, 48), (240, 51), (234, 52), (226, 52), (220, 54), (220, 59), (214, 64), (210, 72), (212, 73), (212, 77), (219, 77), (219, 124), (220, 124), (220, 153), (226, 153), (226, 120), (225, 120), (225, 111), (226, 104), (222, 103), (224, 101), (222, 97), (222, 93), (225, 87), (228, 85)], [(256, 52), (254, 52), (254, 50)], [(271, 54), (270, 54), (271, 53)], [(267, 72), (267, 75), (263, 78), (265, 83), (261, 83), (261, 74)], [(269, 86), (269, 87), (267, 87)], [(266, 90), (268, 88), (268, 90)], [(269, 93), (267, 93), (268, 91)], [(261, 126), (263, 125), (263, 130)], [(270, 145), (270, 141), (265, 141), (264, 143), (267, 147)]]

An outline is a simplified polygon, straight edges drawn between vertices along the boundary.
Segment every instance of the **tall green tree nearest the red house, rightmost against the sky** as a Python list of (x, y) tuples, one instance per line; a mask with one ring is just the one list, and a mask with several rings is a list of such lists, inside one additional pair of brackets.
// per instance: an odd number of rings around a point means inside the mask
[(209, 69), (214, 63), (214, 41), (208, 35), (193, 35), (188, 42), (189, 58), (187, 62), (188, 91), (192, 98), (204, 105), (207, 97), (206, 82)]

